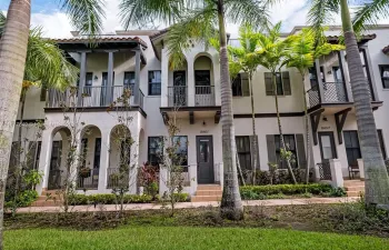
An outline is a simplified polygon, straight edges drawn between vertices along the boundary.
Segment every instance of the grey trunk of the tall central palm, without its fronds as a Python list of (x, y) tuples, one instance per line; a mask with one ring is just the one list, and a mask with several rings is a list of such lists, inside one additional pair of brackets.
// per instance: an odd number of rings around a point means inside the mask
[(237, 148), (232, 116), (232, 91), (230, 86), (227, 34), (225, 23), (223, 0), (218, 0), (218, 19), (220, 31), (220, 88), (221, 88), (221, 127), (225, 187), (220, 204), (223, 218), (240, 220), (243, 218), (243, 207), (239, 192), (237, 173)]

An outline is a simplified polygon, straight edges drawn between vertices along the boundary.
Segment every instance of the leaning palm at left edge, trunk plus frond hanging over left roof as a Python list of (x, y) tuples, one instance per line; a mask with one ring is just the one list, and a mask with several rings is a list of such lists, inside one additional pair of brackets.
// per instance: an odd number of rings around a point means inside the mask
[[(61, 0), (62, 9), (82, 33), (101, 31), (101, 0)], [(0, 210), (3, 209), (9, 158), (18, 114), (30, 30), (31, 0), (11, 0), (0, 41)], [(0, 249), (2, 249), (0, 212)]]

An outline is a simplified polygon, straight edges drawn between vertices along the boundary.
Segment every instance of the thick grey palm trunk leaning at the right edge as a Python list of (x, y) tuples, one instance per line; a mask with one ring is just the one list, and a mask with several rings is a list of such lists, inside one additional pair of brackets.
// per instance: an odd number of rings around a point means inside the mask
[(340, 0), (351, 91), (365, 164), (365, 196), (368, 206), (389, 206), (389, 178), (380, 152), (368, 81), (363, 73), (347, 0)]

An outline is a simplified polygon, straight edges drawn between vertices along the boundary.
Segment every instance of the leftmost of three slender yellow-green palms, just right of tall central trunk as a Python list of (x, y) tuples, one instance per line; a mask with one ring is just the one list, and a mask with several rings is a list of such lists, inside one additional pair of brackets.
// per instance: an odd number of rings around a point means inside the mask
[[(249, 54), (253, 53), (257, 49), (257, 43), (259, 40), (259, 34), (252, 30), (252, 27), (245, 24), (239, 29), (239, 41), (240, 47), (228, 47), (230, 54), (230, 76), (231, 79), (235, 79), (240, 71), (248, 74), (249, 88), (250, 88), (250, 99), (251, 99), (251, 118), (252, 118), (252, 151), (255, 152), (253, 157), (253, 171), (252, 171), (252, 184), (256, 184), (257, 177), (257, 166), (258, 166), (258, 140), (256, 132), (256, 111), (253, 106), (253, 92), (252, 92), (252, 77), (257, 71), (259, 66), (258, 60), (252, 60)], [(239, 70), (235, 70), (239, 69)]]

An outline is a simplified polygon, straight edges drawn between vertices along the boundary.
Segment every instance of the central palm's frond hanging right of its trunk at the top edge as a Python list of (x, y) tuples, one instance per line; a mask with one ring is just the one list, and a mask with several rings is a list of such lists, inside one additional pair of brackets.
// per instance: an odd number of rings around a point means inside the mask
[(269, 8), (276, 0), (229, 0), (226, 1), (226, 18), (240, 26), (249, 23), (255, 30), (270, 27)]

